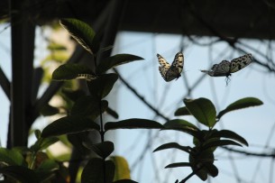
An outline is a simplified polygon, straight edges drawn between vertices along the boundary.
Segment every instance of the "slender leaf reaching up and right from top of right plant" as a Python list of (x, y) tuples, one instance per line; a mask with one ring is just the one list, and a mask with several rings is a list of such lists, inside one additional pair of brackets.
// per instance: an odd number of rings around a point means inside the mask
[(243, 108), (250, 107), (250, 106), (262, 105), (262, 104), (263, 103), (258, 98), (245, 97), (245, 98), (235, 101), (231, 105), (228, 105), (223, 111), (221, 111), (216, 116), (216, 118), (220, 119), (224, 114), (234, 111), (234, 110), (243, 109)]

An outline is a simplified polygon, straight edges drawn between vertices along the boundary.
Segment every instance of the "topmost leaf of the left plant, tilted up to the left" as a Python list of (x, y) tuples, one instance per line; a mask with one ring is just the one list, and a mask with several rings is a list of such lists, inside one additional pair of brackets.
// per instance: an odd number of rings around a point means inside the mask
[(66, 18), (61, 19), (60, 24), (84, 49), (93, 54), (93, 40), (96, 33), (87, 23)]

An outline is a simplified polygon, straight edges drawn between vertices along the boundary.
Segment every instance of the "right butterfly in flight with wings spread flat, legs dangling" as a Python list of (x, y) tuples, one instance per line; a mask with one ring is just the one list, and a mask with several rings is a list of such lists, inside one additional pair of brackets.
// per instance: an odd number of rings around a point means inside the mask
[(208, 74), (210, 77), (226, 77), (226, 84), (232, 73), (245, 68), (252, 63), (252, 54), (246, 54), (242, 57), (232, 59), (231, 61), (223, 60), (219, 64), (214, 64), (211, 70), (200, 70)]

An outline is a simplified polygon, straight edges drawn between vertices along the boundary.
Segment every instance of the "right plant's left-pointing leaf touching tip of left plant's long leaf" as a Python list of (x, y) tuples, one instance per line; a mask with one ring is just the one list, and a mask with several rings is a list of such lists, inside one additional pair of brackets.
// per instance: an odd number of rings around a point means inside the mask
[(199, 138), (200, 130), (194, 124), (181, 119), (174, 119), (163, 124), (164, 128), (161, 130), (177, 130), (180, 132), (188, 133), (196, 138)]

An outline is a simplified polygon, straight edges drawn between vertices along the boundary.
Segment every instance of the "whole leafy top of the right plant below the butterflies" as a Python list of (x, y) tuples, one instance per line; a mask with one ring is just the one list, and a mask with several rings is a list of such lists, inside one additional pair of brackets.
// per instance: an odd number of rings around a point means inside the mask
[(175, 115), (193, 115), (197, 122), (208, 127), (208, 130), (200, 130), (196, 125), (183, 119), (170, 120), (164, 124), (163, 130), (176, 130), (192, 135), (194, 147), (170, 142), (160, 145), (155, 151), (167, 149), (184, 151), (188, 153), (188, 162), (171, 163), (166, 168), (190, 167), (193, 173), (202, 180), (206, 180), (207, 175), (215, 177), (218, 175), (218, 169), (214, 165), (214, 151), (217, 147), (225, 145), (248, 146), (248, 142), (242, 136), (229, 130), (216, 130), (214, 129), (215, 124), (224, 114), (250, 106), (262, 105), (262, 102), (254, 97), (242, 98), (228, 105), (218, 114), (216, 114), (215, 105), (206, 98), (184, 99), (183, 102), (186, 106), (180, 107)]

